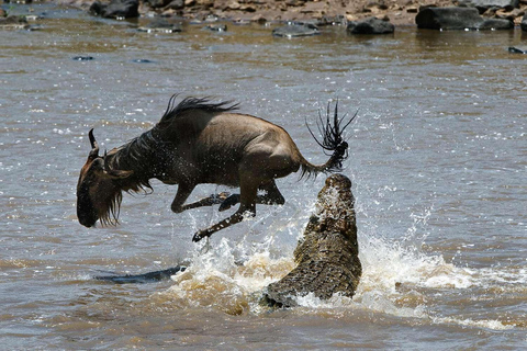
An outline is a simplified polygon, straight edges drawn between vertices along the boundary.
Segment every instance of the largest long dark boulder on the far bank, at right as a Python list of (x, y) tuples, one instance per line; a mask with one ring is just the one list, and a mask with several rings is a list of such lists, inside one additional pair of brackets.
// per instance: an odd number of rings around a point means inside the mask
[(419, 29), (462, 31), (462, 30), (508, 30), (514, 24), (508, 20), (480, 16), (475, 8), (424, 8), (415, 16)]

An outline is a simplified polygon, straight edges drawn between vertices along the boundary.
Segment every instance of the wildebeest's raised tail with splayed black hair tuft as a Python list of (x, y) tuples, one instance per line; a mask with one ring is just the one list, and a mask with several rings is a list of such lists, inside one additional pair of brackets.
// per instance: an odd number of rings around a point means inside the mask
[(327, 103), (325, 118), (323, 117), (321, 111), (318, 111), (318, 120), (316, 121), (316, 126), (318, 128), (318, 133), (322, 135), (322, 140), (315, 136), (310, 125), (307, 124), (307, 121), (305, 122), (310, 134), (313, 136), (316, 144), (318, 144), (324, 149), (324, 154), (329, 156), (329, 160), (327, 160), (327, 162), (324, 165), (316, 166), (312, 165), (302, 157), (301, 178), (304, 176), (316, 176), (319, 172), (338, 172), (343, 170), (343, 161), (348, 157), (348, 143), (346, 143), (343, 135), (346, 127), (357, 116), (357, 113), (347, 122), (346, 116), (347, 114), (345, 114), (341, 118), (338, 117), (338, 100), (335, 103), (333, 118), (330, 113), (330, 102)]

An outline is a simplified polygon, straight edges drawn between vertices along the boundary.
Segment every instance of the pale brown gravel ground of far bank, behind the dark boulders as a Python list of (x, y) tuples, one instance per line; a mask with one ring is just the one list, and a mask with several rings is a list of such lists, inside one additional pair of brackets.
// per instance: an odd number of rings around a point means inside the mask
[[(30, 1), (30, 0), (26, 0)], [(93, 2), (110, 0), (53, 0), (88, 10)], [(122, 0), (123, 2), (137, 0)], [(138, 0), (139, 15), (182, 16), (204, 21), (284, 22), (317, 21), (332, 24), (375, 16), (394, 25), (415, 25), (424, 7), (475, 7), (486, 18), (507, 19), (519, 25), (527, 0)]]

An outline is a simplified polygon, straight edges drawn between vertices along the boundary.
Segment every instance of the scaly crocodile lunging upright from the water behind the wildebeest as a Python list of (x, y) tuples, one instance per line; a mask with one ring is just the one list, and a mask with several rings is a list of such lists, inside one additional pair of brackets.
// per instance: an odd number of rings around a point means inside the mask
[(298, 267), (264, 292), (262, 303), (296, 305), (294, 296), (313, 293), (321, 299), (334, 294), (352, 297), (362, 274), (351, 181), (343, 174), (326, 179), (315, 213), (294, 250)]

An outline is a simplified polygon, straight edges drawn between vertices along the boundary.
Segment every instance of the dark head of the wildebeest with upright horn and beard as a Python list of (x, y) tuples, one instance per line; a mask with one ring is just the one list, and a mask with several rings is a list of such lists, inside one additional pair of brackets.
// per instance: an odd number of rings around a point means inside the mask
[(133, 171), (112, 170), (106, 154), (99, 156), (99, 145), (89, 133), (91, 151), (80, 170), (77, 183), (77, 217), (86, 227), (92, 227), (97, 219), (103, 225), (115, 225), (122, 200), (119, 181), (130, 177)]

